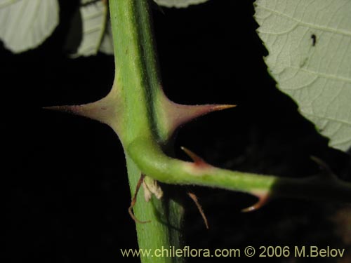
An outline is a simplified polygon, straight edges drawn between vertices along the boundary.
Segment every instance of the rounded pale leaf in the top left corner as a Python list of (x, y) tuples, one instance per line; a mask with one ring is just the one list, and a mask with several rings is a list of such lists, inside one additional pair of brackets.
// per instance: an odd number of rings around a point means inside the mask
[(0, 39), (13, 53), (36, 48), (58, 25), (57, 0), (0, 0)]

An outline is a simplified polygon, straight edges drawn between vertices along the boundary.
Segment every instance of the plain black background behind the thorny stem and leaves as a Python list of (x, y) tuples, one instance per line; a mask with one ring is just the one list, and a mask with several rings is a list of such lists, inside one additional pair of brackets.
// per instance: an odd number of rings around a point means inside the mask
[[(63, 48), (77, 4), (60, 1), (60, 25), (39, 48), (20, 55), (0, 50), (4, 262), (139, 261), (121, 259), (119, 252), (138, 245), (127, 212), (131, 197), (117, 136), (95, 121), (41, 109), (92, 102), (112, 86), (111, 56), (72, 60)], [(275, 88), (253, 13), (253, 1), (211, 0), (180, 10), (154, 6), (168, 97), (183, 104), (237, 104), (183, 127), (176, 139), (178, 157), (186, 158), (178, 150), (184, 145), (223, 168), (305, 177), (319, 172), (310, 160), (313, 155), (350, 180), (350, 156), (327, 147), (328, 141), (300, 116), (296, 104)], [(223, 190), (194, 191), (211, 229), (204, 228), (189, 203), (185, 243), (192, 248), (330, 245), (348, 248), (350, 255), (350, 243), (347, 247), (337, 234), (340, 224), (333, 224), (340, 219), (336, 217), (340, 205), (284, 199), (240, 213), (255, 200)], [(216, 262), (234, 260), (249, 261), (241, 257)]]

